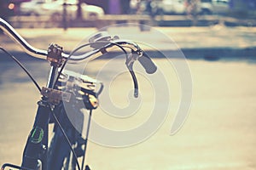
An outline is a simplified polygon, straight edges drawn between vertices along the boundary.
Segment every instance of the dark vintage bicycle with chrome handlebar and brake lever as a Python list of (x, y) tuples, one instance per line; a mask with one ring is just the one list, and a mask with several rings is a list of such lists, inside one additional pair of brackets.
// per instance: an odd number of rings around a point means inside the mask
[[(138, 96), (138, 83), (133, 63), (138, 60), (148, 74), (153, 74), (157, 67), (137, 43), (125, 41), (117, 36), (110, 36), (106, 32), (100, 32), (90, 37), (89, 42), (76, 48), (71, 54), (65, 54), (63, 48), (57, 44), (50, 44), (47, 50), (32, 47), (23, 37), (9, 25), (8, 22), (0, 18), (0, 28), (5, 34), (17, 42), (26, 54), (32, 57), (49, 61), (50, 71), (46, 87), (40, 88), (32, 75), (21, 65), (18, 59), (6, 51), (0, 49), (9, 57), (15, 60), (32, 82), (38, 88), (42, 98), (38, 101), (38, 111), (30, 132), (26, 146), (23, 151), (21, 166), (6, 163), (1, 170), (9, 168), (22, 170), (52, 170), (52, 169), (84, 169), (84, 160), (87, 147), (87, 140), (90, 131), (91, 113), (97, 108), (98, 96), (103, 89), (103, 83), (96, 79), (81, 75), (77, 72), (65, 70), (67, 61), (73, 63), (86, 59), (96, 59), (104, 54), (120, 48), (125, 54), (125, 65), (131, 73), (134, 84), (134, 96)], [(90, 52), (74, 55), (80, 48), (90, 46)], [(100, 88), (96, 89), (96, 86)], [(77, 105), (73, 101), (82, 101), (84, 105)], [(67, 118), (64, 102), (72, 103), (72, 111), (77, 120), (83, 120), (83, 112), (79, 109), (89, 111), (86, 137), (83, 138), (78, 129), (74, 128)], [(54, 136), (49, 144), (49, 123), (54, 123)], [(80, 122), (80, 127), (83, 123)], [(49, 144), (49, 147), (48, 147)], [(61, 147), (61, 150), (59, 149)], [(79, 165), (78, 157), (82, 157), (82, 165)], [(85, 169), (90, 169), (88, 165)]]

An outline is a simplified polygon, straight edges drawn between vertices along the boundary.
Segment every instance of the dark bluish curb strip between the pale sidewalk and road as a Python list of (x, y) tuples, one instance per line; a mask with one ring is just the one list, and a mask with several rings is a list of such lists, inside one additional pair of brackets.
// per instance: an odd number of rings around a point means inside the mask
[[(218, 60), (218, 59), (256, 59), (256, 47), (252, 48), (182, 48), (181, 49), (186, 59), (207, 59), (207, 60)], [(68, 53), (68, 52), (67, 52)], [(147, 51), (151, 58), (162, 59), (183, 59), (180, 51), (177, 50), (164, 50), (164, 51)], [(0, 62), (12, 61), (7, 55), (3, 57), (3, 52), (0, 53)], [(36, 59), (28, 54), (19, 51), (11, 52), (20, 61), (44, 61), (44, 59)], [(120, 54), (119, 52), (113, 52), (106, 54), (101, 59), (111, 59), (113, 56)], [(165, 56), (164, 54), (170, 54)]]

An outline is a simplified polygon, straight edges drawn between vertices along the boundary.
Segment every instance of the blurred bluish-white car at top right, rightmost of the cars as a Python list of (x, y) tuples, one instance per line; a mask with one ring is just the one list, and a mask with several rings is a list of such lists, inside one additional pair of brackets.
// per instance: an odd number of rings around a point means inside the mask
[(201, 0), (200, 14), (227, 14), (229, 0)]

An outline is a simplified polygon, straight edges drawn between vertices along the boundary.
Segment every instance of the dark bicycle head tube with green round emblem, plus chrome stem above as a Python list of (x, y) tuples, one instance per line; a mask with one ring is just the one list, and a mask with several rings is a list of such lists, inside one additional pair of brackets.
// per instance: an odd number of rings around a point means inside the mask
[[(54, 88), (55, 77), (57, 73), (57, 65), (51, 65), (49, 72), (49, 80), (46, 88)], [(42, 162), (42, 169), (47, 170), (47, 150), (48, 150), (48, 133), (49, 133), (49, 105), (44, 97), (38, 102), (38, 111), (32, 127), (32, 131), (26, 141), (25, 150), (23, 153), (21, 167), (29, 167), (32, 169), (41, 169), (40, 162)]]

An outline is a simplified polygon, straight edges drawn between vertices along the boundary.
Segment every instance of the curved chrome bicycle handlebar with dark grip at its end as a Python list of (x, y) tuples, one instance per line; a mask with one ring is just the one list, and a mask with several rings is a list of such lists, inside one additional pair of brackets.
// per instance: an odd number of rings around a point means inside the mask
[[(23, 48), (26, 54), (29, 54), (39, 59), (47, 58), (47, 54), (48, 54), (47, 50), (32, 47), (32, 45), (26, 42), (26, 40), (23, 37), (21, 37), (20, 34), (17, 31), (15, 31), (15, 29), (12, 26), (10, 26), (9, 23), (3, 20), (2, 18), (0, 18), (0, 28), (3, 30), (4, 33), (6, 33), (15, 42), (17, 42), (20, 45), (20, 47)], [(148, 57), (147, 54), (144, 53), (144, 51), (141, 48), (139, 48), (139, 46), (135, 42), (129, 42), (121, 39), (115, 40), (114, 42), (109, 42), (104, 47), (94, 49), (86, 54), (72, 55), (69, 58), (69, 60), (75, 62), (83, 59), (96, 59), (102, 54), (112, 51), (114, 47), (114, 43), (118, 44), (123, 48), (130, 48), (131, 51), (136, 52), (139, 55), (139, 58), (138, 58), (139, 62), (143, 65), (147, 73), (152, 74), (156, 71), (156, 66), (154, 65), (153, 61)], [(69, 57), (69, 54), (62, 53), (61, 55), (64, 59), (67, 59)]]

